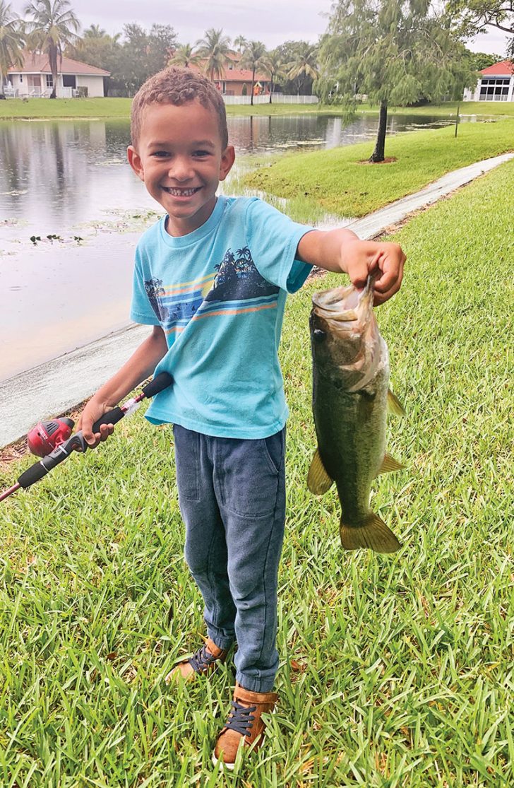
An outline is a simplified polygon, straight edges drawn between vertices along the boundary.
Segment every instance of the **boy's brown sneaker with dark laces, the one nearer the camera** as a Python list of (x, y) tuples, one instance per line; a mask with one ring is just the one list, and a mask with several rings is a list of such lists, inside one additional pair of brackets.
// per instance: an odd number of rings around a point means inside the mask
[(224, 729), (216, 741), (213, 764), (222, 760), (224, 768), (233, 769), (240, 746), (250, 747), (257, 741), (258, 749), (264, 738), (263, 712), (272, 712), (278, 696), (274, 692), (250, 692), (235, 685), (234, 700)]

